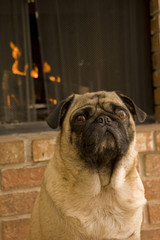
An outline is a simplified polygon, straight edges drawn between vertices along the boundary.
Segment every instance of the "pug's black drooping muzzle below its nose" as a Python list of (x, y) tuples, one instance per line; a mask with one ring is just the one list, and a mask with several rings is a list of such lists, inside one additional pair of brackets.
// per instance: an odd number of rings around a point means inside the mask
[(109, 167), (118, 159), (120, 150), (114, 129), (85, 131), (81, 139), (81, 157), (91, 167)]

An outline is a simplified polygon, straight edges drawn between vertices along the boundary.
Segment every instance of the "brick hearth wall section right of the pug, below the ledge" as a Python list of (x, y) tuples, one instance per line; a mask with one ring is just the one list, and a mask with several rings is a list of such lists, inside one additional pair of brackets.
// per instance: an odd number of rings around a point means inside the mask
[(145, 187), (142, 240), (160, 240), (160, 125), (137, 127), (139, 172)]

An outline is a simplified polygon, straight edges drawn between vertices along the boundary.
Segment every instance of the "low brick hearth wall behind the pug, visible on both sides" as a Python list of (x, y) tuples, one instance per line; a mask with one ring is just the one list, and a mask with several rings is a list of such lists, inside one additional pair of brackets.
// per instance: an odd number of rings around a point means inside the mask
[[(56, 132), (0, 137), (0, 239), (23, 240)], [(142, 240), (160, 239), (160, 125), (137, 127), (139, 171), (148, 203)]]

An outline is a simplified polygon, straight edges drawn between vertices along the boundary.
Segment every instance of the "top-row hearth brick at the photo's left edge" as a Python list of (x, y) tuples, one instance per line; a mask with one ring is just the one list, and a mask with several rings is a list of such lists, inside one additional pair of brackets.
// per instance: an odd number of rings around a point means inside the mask
[(0, 143), (0, 164), (25, 162), (24, 142)]

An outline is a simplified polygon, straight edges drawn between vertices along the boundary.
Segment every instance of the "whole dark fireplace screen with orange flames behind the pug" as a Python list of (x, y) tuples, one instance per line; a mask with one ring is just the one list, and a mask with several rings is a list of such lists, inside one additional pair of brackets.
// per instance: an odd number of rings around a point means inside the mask
[[(0, 1), (0, 124), (120, 90), (153, 114), (147, 0)], [(143, 91), (142, 91), (143, 89)]]

